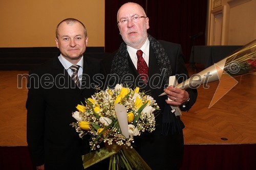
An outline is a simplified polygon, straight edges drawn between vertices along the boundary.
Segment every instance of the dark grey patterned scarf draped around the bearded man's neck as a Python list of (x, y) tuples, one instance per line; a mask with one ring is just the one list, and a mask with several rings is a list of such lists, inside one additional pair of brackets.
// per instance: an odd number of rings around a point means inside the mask
[[(170, 60), (165, 53), (163, 46), (150, 34), (147, 34), (148, 40), (150, 40), (150, 45), (153, 49), (153, 52), (157, 59), (157, 64), (159, 66), (159, 71), (161, 75), (163, 75), (163, 80), (165, 84), (169, 82), (169, 76), (172, 75), (172, 68), (170, 64)], [(112, 66), (111, 66), (111, 74), (116, 74), (119, 77), (119, 80), (123, 80), (122, 77), (126, 74), (129, 74), (129, 61), (128, 61), (128, 51), (126, 44), (124, 42), (121, 43), (118, 52), (113, 58)], [(114, 80), (110, 80), (113, 82)], [(120, 81), (118, 81), (120, 82)], [(120, 82), (125, 83), (125, 82)], [(162, 116), (162, 134), (164, 136), (169, 133), (175, 134), (176, 132), (180, 133), (184, 128), (184, 124), (181, 122), (179, 118), (175, 116), (174, 113), (171, 112), (171, 108), (169, 105), (165, 104)]]

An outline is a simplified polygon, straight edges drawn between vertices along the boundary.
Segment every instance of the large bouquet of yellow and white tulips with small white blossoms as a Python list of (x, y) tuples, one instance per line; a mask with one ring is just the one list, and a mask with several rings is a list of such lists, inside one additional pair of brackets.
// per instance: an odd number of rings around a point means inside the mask
[(92, 151), (100, 148), (101, 142), (106, 146), (84, 156), (84, 167), (110, 157), (109, 169), (138, 168), (141, 158), (137, 159), (139, 155), (133, 149), (134, 136), (155, 130), (153, 112), (159, 110), (150, 95), (140, 91), (139, 87), (133, 90), (117, 84), (114, 89), (97, 89), (92, 98), (86, 99), (86, 105), (77, 105), (76, 108), (78, 111), (72, 116), (77, 122), (72, 126), (79, 136), (92, 136)]

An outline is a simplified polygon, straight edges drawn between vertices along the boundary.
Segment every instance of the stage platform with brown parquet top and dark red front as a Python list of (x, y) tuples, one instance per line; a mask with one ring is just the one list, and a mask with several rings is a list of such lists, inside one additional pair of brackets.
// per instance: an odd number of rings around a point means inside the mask
[[(0, 71), (0, 169), (33, 169), (26, 142), (28, 71)], [(195, 74), (189, 68), (189, 75)], [(182, 112), (182, 169), (256, 169), (256, 75), (236, 77), (238, 84), (211, 108), (219, 82), (198, 88), (196, 104)], [(19, 88), (18, 88), (19, 87)], [(17, 165), (14, 165), (16, 164)]]

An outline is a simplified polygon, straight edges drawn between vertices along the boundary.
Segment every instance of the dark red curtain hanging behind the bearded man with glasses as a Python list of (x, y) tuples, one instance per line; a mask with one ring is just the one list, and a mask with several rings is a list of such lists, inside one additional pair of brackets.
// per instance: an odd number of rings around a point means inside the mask
[(205, 45), (207, 1), (205, 0), (112, 0), (105, 1), (105, 52), (112, 53), (122, 42), (117, 27), (116, 15), (126, 2), (136, 2), (146, 11), (150, 19), (148, 33), (156, 39), (181, 44), (186, 62), (189, 61), (193, 38), (195, 45)]

